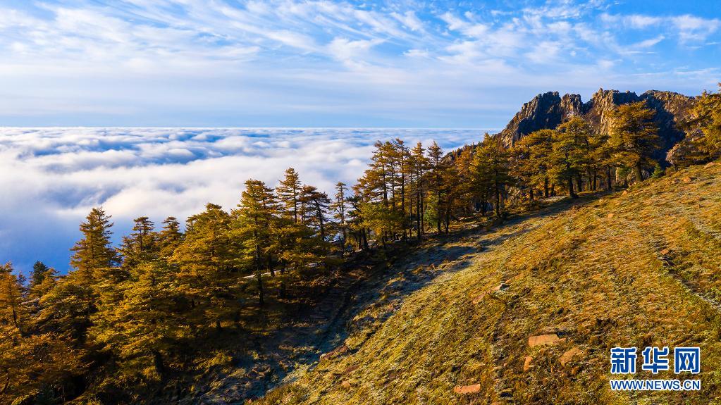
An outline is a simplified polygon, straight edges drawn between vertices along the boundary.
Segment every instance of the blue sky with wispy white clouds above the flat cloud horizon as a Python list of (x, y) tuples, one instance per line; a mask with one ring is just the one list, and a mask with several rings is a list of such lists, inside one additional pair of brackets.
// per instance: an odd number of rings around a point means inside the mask
[(0, 0), (0, 125), (498, 128), (550, 90), (698, 94), (717, 1)]

